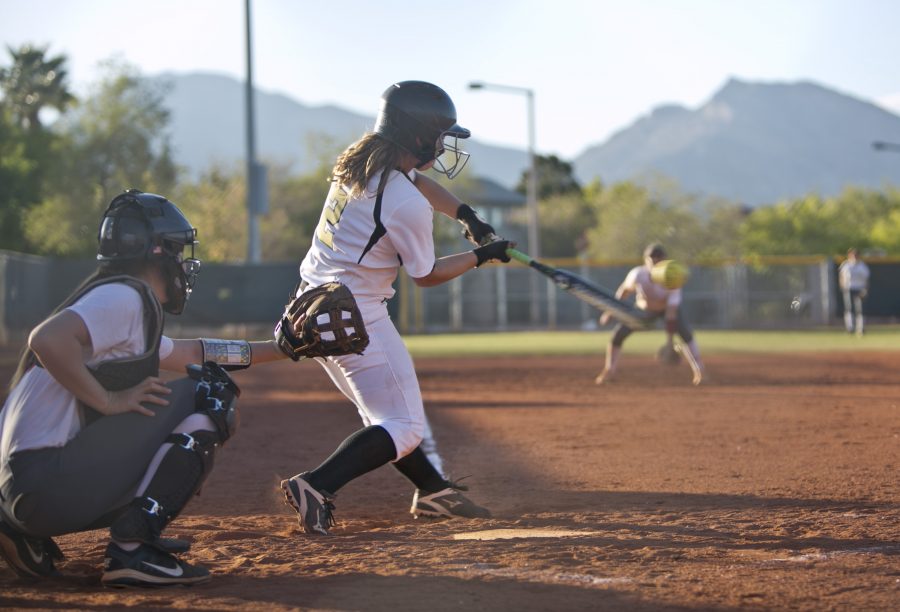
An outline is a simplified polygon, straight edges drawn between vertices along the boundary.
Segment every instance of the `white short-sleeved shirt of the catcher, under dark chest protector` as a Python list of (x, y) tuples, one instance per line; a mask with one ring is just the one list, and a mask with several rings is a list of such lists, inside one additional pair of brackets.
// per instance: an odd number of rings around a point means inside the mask
[[(144, 304), (140, 294), (122, 283), (95, 287), (66, 310), (87, 327), (93, 354), (85, 363), (140, 355), (145, 352)], [(160, 358), (173, 350), (163, 336)], [(9, 477), (9, 457), (17, 452), (65, 446), (81, 430), (78, 402), (44, 368), (34, 366), (15, 386), (0, 413), (0, 482)]]

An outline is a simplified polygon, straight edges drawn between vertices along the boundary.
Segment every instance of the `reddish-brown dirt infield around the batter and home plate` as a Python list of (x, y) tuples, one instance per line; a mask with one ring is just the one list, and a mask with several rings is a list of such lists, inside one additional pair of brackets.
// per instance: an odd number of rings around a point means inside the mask
[[(327, 538), (275, 493), (358, 427), (312, 363), (240, 373), (242, 430), (170, 529), (214, 571), (108, 591), (105, 533), (58, 539), (59, 580), (0, 569), (0, 606), (586, 610), (891, 609), (900, 600), (900, 353), (723, 355), (711, 382), (625, 355), (418, 360), (454, 476), (496, 518), (415, 521), (390, 468)], [(4, 373), (5, 374), (5, 373)], [(4, 376), (4, 380), (6, 377)], [(894, 602), (894, 603), (891, 603)]]

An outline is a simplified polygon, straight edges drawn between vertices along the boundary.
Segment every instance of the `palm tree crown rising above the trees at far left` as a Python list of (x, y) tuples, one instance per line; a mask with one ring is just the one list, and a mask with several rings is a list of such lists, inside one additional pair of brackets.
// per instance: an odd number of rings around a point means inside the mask
[(55, 108), (63, 112), (75, 101), (66, 78), (67, 58), (64, 55), (47, 58), (47, 48), (22, 45), (19, 49), (7, 46), (13, 63), (0, 68), (0, 89), (13, 119), (24, 129), (41, 128), (40, 112)]

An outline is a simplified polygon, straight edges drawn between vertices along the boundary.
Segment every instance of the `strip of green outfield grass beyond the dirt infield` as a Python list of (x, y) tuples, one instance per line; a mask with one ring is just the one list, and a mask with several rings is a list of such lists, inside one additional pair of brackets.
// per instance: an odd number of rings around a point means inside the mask
[[(489, 355), (600, 355), (612, 336), (609, 330), (509, 332), (495, 334), (434, 334), (405, 336), (414, 357)], [(697, 330), (704, 355), (740, 352), (893, 351), (900, 350), (900, 327), (872, 327), (864, 338), (838, 329), (809, 331)], [(654, 354), (663, 343), (662, 330), (632, 334), (629, 353)]]

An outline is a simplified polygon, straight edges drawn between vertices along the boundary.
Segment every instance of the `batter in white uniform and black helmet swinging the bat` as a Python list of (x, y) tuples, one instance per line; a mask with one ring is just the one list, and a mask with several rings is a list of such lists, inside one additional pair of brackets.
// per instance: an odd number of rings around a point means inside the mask
[[(434, 211), (458, 219), (476, 244), (494, 233), (469, 206), (418, 172), (434, 167), (456, 176), (468, 158), (459, 140), (468, 137), (441, 88), (404, 81), (382, 95), (374, 132), (350, 145), (335, 163), (312, 247), (300, 265), (297, 293), (329, 281), (347, 285), (371, 343), (362, 355), (320, 360), (356, 406), (363, 428), (317, 468), (282, 481), (285, 499), (307, 533), (327, 534), (338, 490), (387, 463), (415, 485), (415, 516), (490, 516), (435, 469), (421, 446), (427, 426), (422, 395), (386, 305), (401, 267), (417, 285), (431, 287), (487, 261), (509, 261), (506, 240), (435, 259)], [(308, 433), (298, 432), (298, 440)]]

